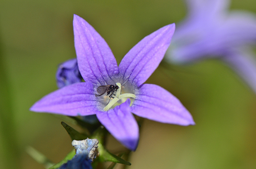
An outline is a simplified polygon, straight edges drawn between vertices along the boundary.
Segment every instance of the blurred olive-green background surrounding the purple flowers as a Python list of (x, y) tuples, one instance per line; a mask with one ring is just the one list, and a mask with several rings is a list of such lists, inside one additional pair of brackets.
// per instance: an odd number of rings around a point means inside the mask
[[(256, 2), (233, 0), (231, 9), (256, 13)], [(74, 13), (102, 35), (120, 63), (146, 35), (179, 23), (186, 6), (175, 0), (2, 0), (0, 168), (43, 168), (25, 152), (28, 145), (53, 162), (72, 150), (61, 120), (28, 109), (57, 89), (57, 65), (76, 57)], [(256, 95), (226, 65), (219, 60), (190, 66), (161, 64), (147, 83), (163, 86), (179, 98), (196, 125), (145, 120), (127, 168), (256, 168)], [(119, 146), (110, 138), (110, 151)]]

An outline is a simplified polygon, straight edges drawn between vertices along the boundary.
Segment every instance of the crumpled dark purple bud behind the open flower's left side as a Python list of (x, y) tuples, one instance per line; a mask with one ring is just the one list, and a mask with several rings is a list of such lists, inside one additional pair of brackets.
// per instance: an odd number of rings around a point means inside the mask
[(81, 82), (82, 76), (78, 70), (77, 59), (70, 59), (58, 65), (56, 80), (58, 88)]

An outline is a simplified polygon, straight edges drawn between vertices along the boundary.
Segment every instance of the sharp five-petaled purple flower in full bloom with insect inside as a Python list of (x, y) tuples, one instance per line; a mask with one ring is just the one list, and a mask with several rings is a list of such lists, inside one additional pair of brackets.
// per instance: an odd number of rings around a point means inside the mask
[[(78, 68), (86, 82), (48, 94), (31, 107), (32, 111), (68, 116), (96, 114), (101, 124), (130, 150), (136, 150), (139, 141), (139, 127), (131, 112), (169, 124), (195, 124), (188, 110), (169, 91), (143, 84), (163, 59), (175, 24), (142, 39), (119, 66), (105, 40), (84, 19), (74, 15), (73, 28)], [(106, 84), (119, 86), (112, 100), (106, 94), (97, 96), (99, 86)]]

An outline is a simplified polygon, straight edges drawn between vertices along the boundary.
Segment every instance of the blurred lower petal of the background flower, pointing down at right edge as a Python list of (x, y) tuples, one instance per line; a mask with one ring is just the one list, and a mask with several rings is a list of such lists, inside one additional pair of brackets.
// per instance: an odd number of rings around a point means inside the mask
[(253, 54), (250, 54), (249, 51), (237, 51), (223, 57), (223, 60), (230, 65), (256, 93), (256, 61)]

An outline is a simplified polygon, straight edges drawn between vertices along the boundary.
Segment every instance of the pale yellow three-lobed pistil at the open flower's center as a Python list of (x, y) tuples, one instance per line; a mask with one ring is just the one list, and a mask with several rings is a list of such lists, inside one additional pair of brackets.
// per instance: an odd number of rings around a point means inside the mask
[(119, 88), (116, 90), (116, 95), (114, 95), (114, 98), (109, 102), (109, 104), (107, 104), (103, 108), (104, 111), (108, 111), (111, 107), (114, 108), (115, 106), (124, 103), (128, 98), (131, 99), (131, 103), (130, 103), (130, 106), (131, 106), (136, 98), (135, 94), (132, 94), (132, 93), (121, 94), (121, 88), (122, 88), (121, 83), (116, 83), (116, 85), (119, 86)]

